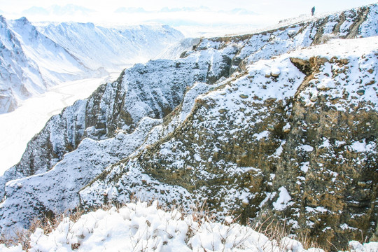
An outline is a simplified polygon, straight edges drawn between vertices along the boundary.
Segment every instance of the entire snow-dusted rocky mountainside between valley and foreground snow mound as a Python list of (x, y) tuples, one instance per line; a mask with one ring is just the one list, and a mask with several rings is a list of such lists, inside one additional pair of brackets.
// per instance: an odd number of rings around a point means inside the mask
[[(1, 178), (1, 227), (134, 195), (274, 218), (330, 250), (377, 239), (377, 13), (202, 39), (127, 69), (29, 142)], [(354, 39), (322, 44), (333, 36)]]

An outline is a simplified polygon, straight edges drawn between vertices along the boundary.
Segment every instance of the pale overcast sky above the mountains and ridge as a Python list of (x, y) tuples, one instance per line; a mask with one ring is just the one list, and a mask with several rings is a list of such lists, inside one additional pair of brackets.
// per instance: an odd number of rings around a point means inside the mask
[(0, 14), (31, 21), (76, 21), (106, 25), (162, 23), (192, 31), (225, 33), (274, 25), (286, 18), (346, 10), (377, 0), (0, 0)]

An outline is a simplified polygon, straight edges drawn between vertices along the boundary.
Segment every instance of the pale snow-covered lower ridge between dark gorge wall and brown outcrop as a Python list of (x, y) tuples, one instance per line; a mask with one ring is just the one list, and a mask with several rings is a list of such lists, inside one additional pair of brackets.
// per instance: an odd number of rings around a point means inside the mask
[[(158, 123), (159, 120), (144, 118), (141, 121), (141, 126), (132, 134), (120, 133), (114, 138), (103, 141), (86, 138), (81, 141), (76, 151), (66, 154), (64, 160), (57, 163), (50, 171), (8, 182), (6, 195), (9, 200), (3, 202), (1, 207), (13, 209), (17, 202), (27, 202), (28, 207), (15, 211), (13, 214), (10, 214), (10, 211), (8, 214), (3, 214), (1, 225), (14, 224), (13, 221), (7, 221), (10, 220), (8, 216), (13, 216), (11, 217), (13, 220), (31, 220), (36, 211), (64, 212), (66, 209), (76, 208), (79, 202), (76, 192), (109, 164), (130, 155), (143, 143), (144, 137), (151, 127)], [(114, 146), (118, 146), (120, 149), (116, 151)], [(80, 160), (85, 161), (81, 162)], [(22, 187), (18, 186), (19, 184), (22, 184)], [(35, 194), (33, 197), (27, 196), (34, 190), (41, 193)]]

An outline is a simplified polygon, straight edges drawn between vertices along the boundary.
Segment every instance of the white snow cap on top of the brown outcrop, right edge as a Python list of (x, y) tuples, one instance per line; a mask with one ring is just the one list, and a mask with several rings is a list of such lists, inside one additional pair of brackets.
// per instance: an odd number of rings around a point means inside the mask
[[(361, 46), (363, 44), (363, 46)], [(332, 50), (331, 48), (335, 48)], [(370, 102), (377, 110), (378, 96), (376, 84), (378, 37), (355, 38), (330, 41), (290, 53), (292, 57), (309, 59), (318, 55), (326, 59), (321, 71), (310, 80), (309, 86), (301, 94), (303, 99), (313, 105), (318, 97), (329, 97), (328, 106), (344, 111), (336, 99), (345, 99), (349, 104)], [(321, 59), (320, 59), (321, 60)]]

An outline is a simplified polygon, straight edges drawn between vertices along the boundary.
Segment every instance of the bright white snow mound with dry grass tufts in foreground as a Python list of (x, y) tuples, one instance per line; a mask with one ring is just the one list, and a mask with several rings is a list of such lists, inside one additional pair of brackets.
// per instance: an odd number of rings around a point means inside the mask
[[(219, 223), (203, 215), (184, 215), (176, 209), (164, 211), (157, 201), (151, 206), (146, 202), (129, 203), (120, 209), (84, 214), (76, 222), (66, 217), (49, 234), (37, 228), (30, 237), (28, 251), (324, 252), (320, 248), (304, 249), (289, 237), (269, 240), (233, 221), (226, 218)], [(349, 248), (354, 252), (374, 252), (378, 251), (378, 242), (350, 241)], [(0, 251), (24, 250), (21, 244), (9, 248), (1, 244)]]

